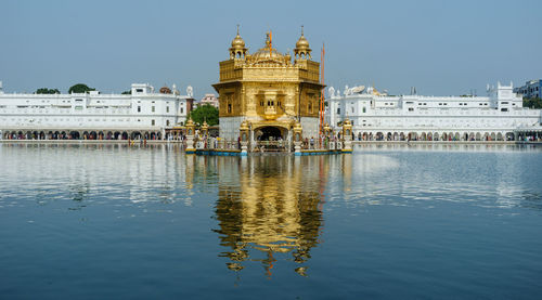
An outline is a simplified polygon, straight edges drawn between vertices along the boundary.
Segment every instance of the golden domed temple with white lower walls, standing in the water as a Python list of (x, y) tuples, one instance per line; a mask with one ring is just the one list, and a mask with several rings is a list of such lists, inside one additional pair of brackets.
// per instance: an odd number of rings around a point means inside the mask
[(229, 51), (229, 60), (220, 62), (220, 82), (212, 86), (219, 94), (221, 138), (237, 141), (246, 128), (253, 149), (260, 141), (291, 142), (296, 126), (304, 139), (318, 136), (324, 86), (302, 30), (294, 56), (273, 47), (271, 32), (250, 54), (238, 28)]

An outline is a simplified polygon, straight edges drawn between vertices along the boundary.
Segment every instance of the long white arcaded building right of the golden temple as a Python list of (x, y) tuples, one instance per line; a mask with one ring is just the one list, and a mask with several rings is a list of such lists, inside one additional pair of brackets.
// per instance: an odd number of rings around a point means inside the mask
[(363, 86), (326, 99), (325, 120), (336, 130), (349, 118), (356, 140), (506, 141), (539, 132), (541, 109), (522, 107), (513, 86), (488, 86), (488, 96), (382, 95)]

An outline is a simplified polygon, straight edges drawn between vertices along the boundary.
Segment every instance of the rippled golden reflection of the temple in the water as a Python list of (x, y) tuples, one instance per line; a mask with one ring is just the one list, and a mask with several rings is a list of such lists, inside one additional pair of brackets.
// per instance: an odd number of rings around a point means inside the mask
[[(232, 161), (237, 160), (236, 168)], [(241, 271), (259, 262), (270, 276), (280, 260), (306, 275), (311, 249), (323, 230), (323, 191), (330, 157), (254, 156), (219, 158), (216, 218), (220, 253)]]

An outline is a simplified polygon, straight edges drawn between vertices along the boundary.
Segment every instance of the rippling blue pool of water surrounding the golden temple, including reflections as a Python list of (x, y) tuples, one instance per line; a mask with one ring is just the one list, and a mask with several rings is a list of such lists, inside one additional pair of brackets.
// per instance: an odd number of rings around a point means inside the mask
[(542, 149), (0, 145), (1, 299), (540, 299)]

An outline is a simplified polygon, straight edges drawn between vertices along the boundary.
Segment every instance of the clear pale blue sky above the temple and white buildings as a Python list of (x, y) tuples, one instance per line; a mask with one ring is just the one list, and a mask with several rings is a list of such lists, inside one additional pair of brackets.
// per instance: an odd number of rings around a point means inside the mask
[(457, 95), (542, 77), (542, 1), (0, 1), (4, 92), (133, 82), (214, 93), (241, 26), (250, 53), (272, 30), (292, 51), (304, 25), (325, 84)]

